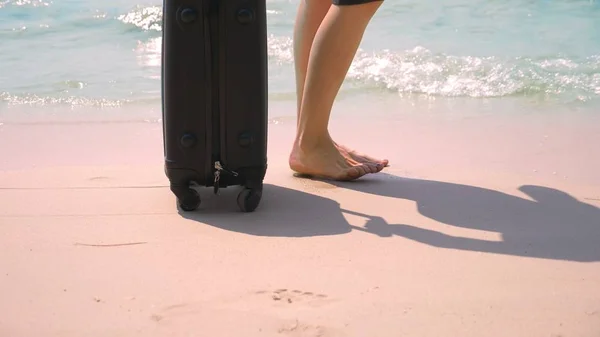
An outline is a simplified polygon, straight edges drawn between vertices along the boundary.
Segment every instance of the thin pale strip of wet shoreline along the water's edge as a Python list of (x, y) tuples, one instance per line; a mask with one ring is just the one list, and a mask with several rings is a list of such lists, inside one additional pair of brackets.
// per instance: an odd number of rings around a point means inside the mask
[[(277, 95), (275, 95), (277, 96)], [(72, 104), (9, 104), (0, 102), (1, 123), (52, 123), (52, 122), (160, 122), (161, 99), (139, 101), (102, 100), (84, 98)], [(352, 88), (340, 91), (333, 107), (332, 118), (346, 116), (364, 118), (365, 115), (381, 119), (405, 116), (431, 115), (432, 118), (468, 118), (482, 115), (589, 115), (595, 118), (600, 101), (556, 101), (539, 95), (503, 96), (489, 98), (428, 96), (425, 94), (398, 94), (381, 89)], [(295, 94), (280, 98), (269, 97), (269, 119), (295, 116)]]

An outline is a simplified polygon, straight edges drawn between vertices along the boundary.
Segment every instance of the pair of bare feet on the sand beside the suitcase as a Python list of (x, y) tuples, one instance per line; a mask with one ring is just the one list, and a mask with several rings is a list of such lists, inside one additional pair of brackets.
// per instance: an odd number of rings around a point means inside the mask
[(300, 174), (341, 181), (355, 180), (369, 173), (377, 173), (385, 166), (377, 162), (359, 162), (340, 150), (333, 141), (310, 150), (294, 144), (289, 165)]

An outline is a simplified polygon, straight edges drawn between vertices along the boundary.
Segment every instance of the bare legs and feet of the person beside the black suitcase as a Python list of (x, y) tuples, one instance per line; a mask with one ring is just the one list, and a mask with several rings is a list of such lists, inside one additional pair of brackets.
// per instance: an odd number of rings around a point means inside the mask
[[(296, 60), (303, 61), (306, 46), (311, 45), (306, 78), (302, 88), (303, 64), (296, 65), (298, 92), (298, 132), (290, 154), (290, 167), (299, 173), (336, 180), (357, 179), (367, 173), (376, 173), (387, 165), (387, 160), (376, 160), (355, 153), (336, 144), (327, 131), (329, 116), (335, 97), (352, 63), (364, 31), (380, 1), (353, 6), (331, 6), (325, 15), (312, 44), (305, 0), (299, 8), (295, 34)], [(303, 7), (304, 6), (304, 7)], [(300, 13), (301, 12), (301, 13)], [(322, 13), (322, 12), (321, 12)], [(317, 15), (315, 15), (316, 18)], [(315, 20), (317, 21), (317, 20)], [(313, 26), (314, 27), (314, 26)]]

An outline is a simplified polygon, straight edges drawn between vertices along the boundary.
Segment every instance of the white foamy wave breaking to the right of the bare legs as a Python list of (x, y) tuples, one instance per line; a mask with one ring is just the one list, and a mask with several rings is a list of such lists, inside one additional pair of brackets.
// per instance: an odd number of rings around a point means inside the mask
[(477, 98), (545, 94), (586, 100), (600, 94), (600, 56), (501, 59), (417, 47), (400, 53), (360, 52), (348, 77), (399, 93)]

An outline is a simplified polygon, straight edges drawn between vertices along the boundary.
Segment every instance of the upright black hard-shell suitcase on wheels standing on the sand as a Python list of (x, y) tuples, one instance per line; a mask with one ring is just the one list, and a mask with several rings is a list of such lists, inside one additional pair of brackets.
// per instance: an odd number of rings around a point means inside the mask
[(195, 186), (243, 186), (244, 212), (267, 170), (265, 0), (164, 0), (162, 116), (165, 174), (184, 211)]

